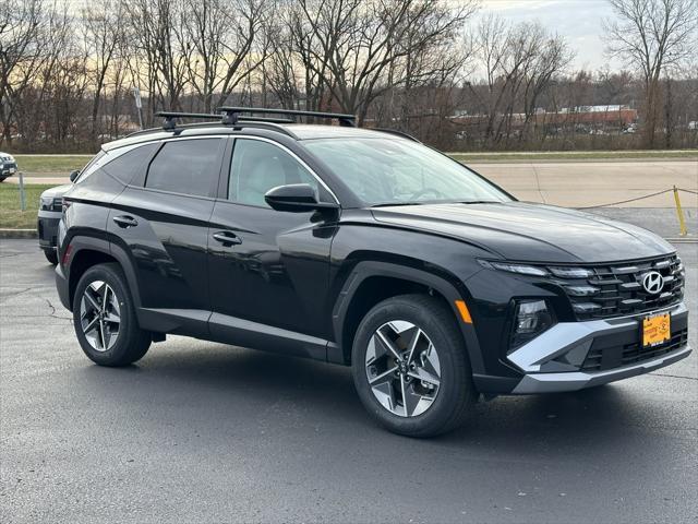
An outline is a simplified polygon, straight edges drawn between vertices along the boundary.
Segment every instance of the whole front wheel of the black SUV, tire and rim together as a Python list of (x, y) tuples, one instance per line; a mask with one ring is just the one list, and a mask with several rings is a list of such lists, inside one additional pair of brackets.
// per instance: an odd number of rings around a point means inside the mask
[[(414, 338), (418, 330), (421, 335)], [(386, 337), (393, 349), (382, 342)], [(394, 350), (402, 357), (402, 366)], [(478, 398), (456, 317), (428, 295), (393, 297), (371, 309), (359, 324), (351, 358), (363, 406), (398, 434), (425, 438), (450, 431), (462, 425)], [(398, 369), (390, 372), (394, 366)], [(408, 397), (407, 407), (404, 401), (400, 405), (402, 396)]]

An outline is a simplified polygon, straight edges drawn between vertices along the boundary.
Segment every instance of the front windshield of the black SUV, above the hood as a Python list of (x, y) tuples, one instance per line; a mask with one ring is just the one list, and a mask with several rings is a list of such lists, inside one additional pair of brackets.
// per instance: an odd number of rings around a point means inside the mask
[(512, 200), (465, 166), (416, 142), (346, 138), (303, 143), (368, 205)]

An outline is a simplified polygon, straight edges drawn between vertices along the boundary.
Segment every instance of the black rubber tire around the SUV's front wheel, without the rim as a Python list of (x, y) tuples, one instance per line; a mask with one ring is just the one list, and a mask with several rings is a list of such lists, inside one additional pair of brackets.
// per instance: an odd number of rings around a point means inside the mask
[[(369, 413), (390, 431), (412, 437), (438, 434), (449, 426), (457, 412), (460, 395), (468, 395), (471, 388), (470, 369), (465, 355), (465, 344), (454, 333), (453, 325), (443, 324), (443, 315), (435, 315), (431, 306), (438, 308), (436, 300), (422, 303), (410, 297), (396, 297), (378, 303), (364, 317), (357, 330), (352, 348), (352, 374), (361, 402)], [(377, 327), (389, 321), (406, 320), (418, 325), (436, 348), (441, 366), (440, 391), (432, 406), (416, 417), (400, 417), (388, 412), (375, 398), (365, 373), (365, 353), (369, 340)]]

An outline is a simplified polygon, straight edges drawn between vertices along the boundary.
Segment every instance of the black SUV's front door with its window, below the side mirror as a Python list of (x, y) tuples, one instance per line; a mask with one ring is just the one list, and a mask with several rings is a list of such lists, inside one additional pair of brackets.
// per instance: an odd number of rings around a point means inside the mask
[[(226, 171), (224, 167), (224, 177)], [(264, 194), (287, 183), (309, 183), (321, 200), (335, 201), (289, 150), (269, 140), (234, 139), (225, 198), (216, 201), (210, 218), (208, 264), (214, 335), (218, 329), (225, 331), (221, 325), (240, 326), (239, 320), (244, 320), (327, 336), (322, 319), (329, 319), (324, 300), (337, 212), (270, 209)]]

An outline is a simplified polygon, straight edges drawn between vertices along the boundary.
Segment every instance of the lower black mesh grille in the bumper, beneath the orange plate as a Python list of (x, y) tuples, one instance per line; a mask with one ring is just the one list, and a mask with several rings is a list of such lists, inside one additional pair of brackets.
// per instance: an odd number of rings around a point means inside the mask
[(642, 347), (633, 342), (618, 347), (591, 348), (581, 365), (582, 371), (605, 371), (661, 357), (688, 343), (688, 327), (678, 330), (672, 338), (658, 346)]

